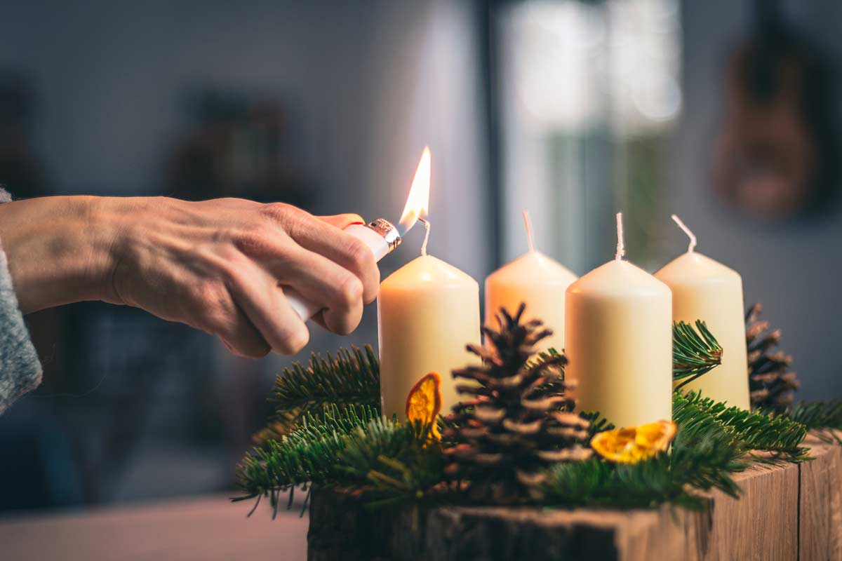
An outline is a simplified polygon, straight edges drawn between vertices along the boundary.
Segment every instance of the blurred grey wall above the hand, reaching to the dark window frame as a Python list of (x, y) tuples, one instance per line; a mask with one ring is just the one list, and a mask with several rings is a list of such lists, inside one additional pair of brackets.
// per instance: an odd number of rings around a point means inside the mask
[[(23, 70), (35, 88), (35, 146), (56, 193), (164, 193), (185, 98), (205, 84), (292, 108), (313, 212), (397, 220), (429, 144), (430, 251), (481, 278), (493, 247), (476, 9), (444, 0), (6, 3), (0, 68)], [(413, 232), (384, 276), (419, 246)], [(361, 339), (373, 342), (367, 325)], [(343, 342), (314, 339), (315, 348)]]

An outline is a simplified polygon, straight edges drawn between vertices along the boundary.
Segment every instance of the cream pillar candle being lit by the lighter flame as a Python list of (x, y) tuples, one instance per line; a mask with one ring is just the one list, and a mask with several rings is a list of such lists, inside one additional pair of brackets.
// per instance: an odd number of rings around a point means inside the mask
[[(429, 223), (425, 223), (429, 228)], [(428, 230), (429, 235), (429, 230)], [(441, 375), (442, 413), (459, 401), (450, 375), (477, 361), (467, 343), (479, 343), (479, 285), (456, 267), (427, 255), (408, 262), (380, 285), (377, 297), (382, 411), (405, 418), (407, 395), (418, 378)]]

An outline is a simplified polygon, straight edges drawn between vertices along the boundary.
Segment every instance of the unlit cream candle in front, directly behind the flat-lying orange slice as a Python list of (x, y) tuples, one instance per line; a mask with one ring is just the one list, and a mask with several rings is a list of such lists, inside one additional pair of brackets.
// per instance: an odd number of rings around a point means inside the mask
[(616, 426), (672, 417), (672, 299), (666, 284), (617, 254), (567, 291), (566, 376), (577, 410), (600, 411)]

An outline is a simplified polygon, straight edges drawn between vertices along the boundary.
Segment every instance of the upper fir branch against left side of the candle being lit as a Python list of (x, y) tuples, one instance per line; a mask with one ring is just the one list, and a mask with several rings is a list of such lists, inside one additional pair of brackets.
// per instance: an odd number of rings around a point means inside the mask
[(258, 442), (290, 432), (306, 415), (332, 405), (360, 405), (380, 410), (380, 362), (370, 345), (365, 350), (339, 349), (336, 357), (313, 353), (306, 367), (293, 363), (274, 382), (274, 421), (258, 433)]

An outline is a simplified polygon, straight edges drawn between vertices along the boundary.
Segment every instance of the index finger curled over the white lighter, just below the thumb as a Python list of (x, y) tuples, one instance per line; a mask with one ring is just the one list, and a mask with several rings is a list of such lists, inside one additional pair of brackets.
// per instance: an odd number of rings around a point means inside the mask
[[(283, 219), (279, 220), (287, 234), (301, 247), (338, 263), (354, 273), (363, 284), (363, 300), (374, 301), (380, 288), (380, 269), (369, 246), (360, 239), (340, 230), (337, 226), (319, 220), (301, 209), (284, 206)], [(280, 216), (280, 214), (279, 214)], [(359, 216), (342, 214), (337, 224), (358, 221)]]

